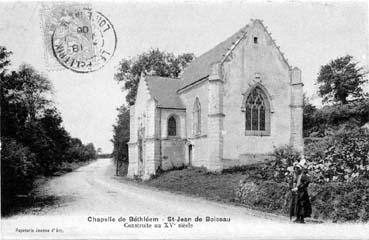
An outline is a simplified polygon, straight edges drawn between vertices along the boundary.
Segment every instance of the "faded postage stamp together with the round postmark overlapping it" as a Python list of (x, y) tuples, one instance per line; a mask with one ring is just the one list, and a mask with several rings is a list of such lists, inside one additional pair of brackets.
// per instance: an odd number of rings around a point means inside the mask
[[(114, 55), (116, 32), (101, 12), (87, 5), (59, 5), (43, 8), (41, 15), (45, 59), (53, 70), (62, 66), (77, 73), (93, 72), (102, 68)], [(54, 59), (50, 61), (50, 58)]]

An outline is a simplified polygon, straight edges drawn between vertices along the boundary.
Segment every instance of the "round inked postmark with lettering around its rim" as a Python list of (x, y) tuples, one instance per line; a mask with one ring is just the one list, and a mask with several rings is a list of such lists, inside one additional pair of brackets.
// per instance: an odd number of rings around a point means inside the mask
[(62, 66), (87, 73), (102, 68), (114, 55), (117, 36), (103, 14), (83, 8), (60, 19), (51, 36), (51, 44)]

